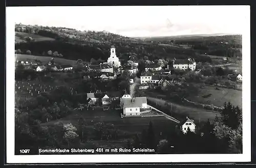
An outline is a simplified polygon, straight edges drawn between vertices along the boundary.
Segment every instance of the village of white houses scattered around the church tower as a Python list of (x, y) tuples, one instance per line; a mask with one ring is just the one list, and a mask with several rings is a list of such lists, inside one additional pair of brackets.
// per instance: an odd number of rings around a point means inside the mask
[[(141, 72), (140, 76), (136, 75), (139, 71), (139, 60), (136, 57), (130, 57), (130, 60), (123, 65), (119, 61), (119, 58), (116, 55), (115, 46), (112, 46), (110, 49), (110, 57), (104, 63), (100, 63), (98, 65), (90, 65), (84, 64), (83, 62), (79, 62), (82, 65), (82, 69), (86, 69), (89, 72), (99, 72), (98, 77), (100, 80), (110, 81), (117, 78), (118, 75), (127, 72), (130, 78), (130, 93), (125, 90), (122, 91), (109, 91), (109, 92), (101, 92), (97, 90), (96, 92), (86, 93), (86, 103), (80, 104), (79, 107), (74, 108), (76, 110), (83, 110), (84, 108), (97, 108), (101, 107), (103, 110), (110, 110), (112, 106), (115, 109), (122, 109), (120, 114), (121, 118), (129, 118), (129, 117), (159, 117), (164, 116), (176, 123), (180, 123), (181, 129), (184, 133), (186, 130), (190, 129), (190, 131), (195, 131), (196, 124), (194, 120), (190, 120), (188, 117), (184, 118), (184, 121), (180, 122), (179, 120), (171, 117), (161, 110), (156, 109), (155, 107), (147, 104), (147, 97), (140, 96), (136, 97), (135, 87), (138, 87), (139, 90), (146, 90), (148, 88), (156, 88), (160, 87), (164, 90), (166, 87), (174, 86), (175, 84), (181, 85), (179, 81), (176, 81), (170, 78), (172, 75), (173, 69), (178, 69), (181, 71), (194, 71), (195, 73), (200, 73), (201, 69), (197, 68), (197, 63), (195, 59), (188, 58), (187, 60), (178, 60), (174, 59), (168, 62), (166, 66), (157, 63), (146, 64), (144, 68), (144, 72)], [(50, 58), (49, 58), (50, 59)], [(59, 65), (54, 62), (54, 58), (50, 59), (49, 63), (42, 65), (40, 61), (35, 61), (33, 59), (28, 59), (27, 61), (19, 61), (16, 60), (16, 66), (23, 65), (28, 70), (32, 70), (38, 73), (44, 71), (50, 72), (72, 72), (76, 67), (72, 65)], [(172, 66), (172, 67), (170, 67)], [(73, 69), (74, 68), (74, 69)], [(84, 76), (85, 77), (85, 76)], [(90, 78), (90, 76), (89, 76)], [(228, 74), (228, 78), (231, 80), (237, 80), (237, 82), (242, 82), (241, 74)], [(19, 92), (20, 86), (16, 84), (15, 93)], [(24, 87), (24, 86), (23, 86)], [(40, 86), (40, 88), (36, 89), (36, 87), (30, 85), (27, 87), (27, 92), (31, 94), (31, 96), (39, 95), (41, 93), (50, 91), (54, 89), (49, 86), (47, 89), (45, 86)], [(72, 94), (79, 94), (78, 91), (73, 92), (74, 90), (71, 88)], [(80, 93), (81, 94), (81, 93)]]

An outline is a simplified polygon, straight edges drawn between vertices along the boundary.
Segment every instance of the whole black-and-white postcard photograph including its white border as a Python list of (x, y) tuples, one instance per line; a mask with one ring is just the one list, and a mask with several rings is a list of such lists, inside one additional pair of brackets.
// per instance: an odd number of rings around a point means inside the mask
[(7, 163), (251, 159), (249, 6), (6, 8)]

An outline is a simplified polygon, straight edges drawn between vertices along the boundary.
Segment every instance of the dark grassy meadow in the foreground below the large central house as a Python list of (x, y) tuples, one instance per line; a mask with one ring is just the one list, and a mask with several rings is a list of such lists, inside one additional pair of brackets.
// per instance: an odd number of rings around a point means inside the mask
[[(166, 135), (170, 130), (174, 129), (176, 123), (166, 119), (163, 116), (158, 117), (131, 117), (131, 118), (121, 118), (120, 110), (74, 110), (73, 114), (56, 121), (50, 121), (41, 125), (54, 125), (59, 122), (63, 124), (72, 123), (74, 126), (78, 126), (78, 119), (83, 117), (86, 119), (88, 128), (92, 127), (98, 122), (103, 122), (105, 124), (113, 124), (114, 128), (117, 128), (121, 133), (135, 135), (141, 133), (143, 129), (148, 128), (148, 124), (152, 121), (156, 135)], [(131, 136), (130, 136), (131, 137)]]

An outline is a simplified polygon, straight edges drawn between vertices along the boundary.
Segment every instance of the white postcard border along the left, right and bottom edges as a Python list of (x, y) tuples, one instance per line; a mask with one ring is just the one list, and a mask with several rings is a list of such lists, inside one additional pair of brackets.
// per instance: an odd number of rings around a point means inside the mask
[[(202, 6), (203, 7), (203, 6)], [(216, 8), (218, 6), (211, 6)], [(238, 7), (238, 6), (236, 6)], [(251, 91), (250, 91), (250, 6), (244, 12), (242, 34), (243, 70), (243, 154), (93, 154), (93, 155), (14, 155), (15, 141), (15, 8), (6, 8), (6, 156), (7, 163), (136, 163), (136, 162), (248, 162), (251, 161)], [(229, 6), (227, 6), (229, 8)], [(46, 18), (47, 19), (47, 18)], [(71, 27), (72, 28), (72, 27)]]

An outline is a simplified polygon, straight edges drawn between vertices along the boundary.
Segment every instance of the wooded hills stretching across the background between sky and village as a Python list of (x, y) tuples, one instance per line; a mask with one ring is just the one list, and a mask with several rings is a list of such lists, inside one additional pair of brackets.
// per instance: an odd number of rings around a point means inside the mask
[(23, 54), (30, 50), (33, 55), (48, 56), (48, 51), (57, 51), (69, 60), (106, 60), (112, 45), (116, 47), (119, 59), (124, 61), (132, 55), (138, 59), (146, 56), (150, 61), (194, 58), (197, 62), (210, 62), (210, 58), (202, 54), (242, 57), (241, 35), (184, 35), (141, 40), (106, 31), (81, 32), (66, 27), (22, 24), (16, 24), (15, 31), (15, 49), (20, 49)]

